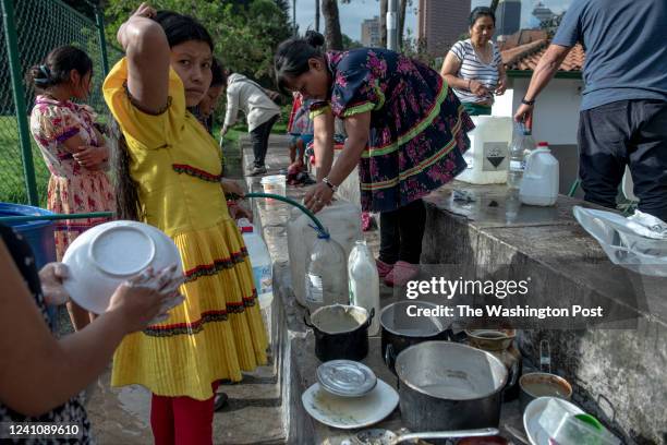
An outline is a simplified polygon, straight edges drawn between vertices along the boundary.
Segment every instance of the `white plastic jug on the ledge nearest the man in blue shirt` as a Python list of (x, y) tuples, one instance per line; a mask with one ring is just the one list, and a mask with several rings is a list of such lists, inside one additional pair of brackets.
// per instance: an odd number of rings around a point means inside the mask
[(541, 142), (529, 156), (519, 190), (523, 204), (550, 206), (558, 200), (558, 159), (546, 142)]

